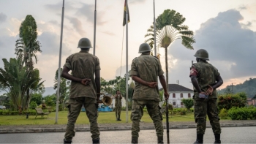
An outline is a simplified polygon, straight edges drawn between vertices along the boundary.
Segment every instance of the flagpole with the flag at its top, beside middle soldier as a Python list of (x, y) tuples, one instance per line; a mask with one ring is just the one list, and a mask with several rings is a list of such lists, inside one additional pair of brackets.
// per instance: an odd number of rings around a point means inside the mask
[(126, 61), (126, 67), (127, 67), (127, 75), (126, 75), (126, 84), (125, 84), (125, 87), (126, 87), (126, 102), (127, 102), (127, 123), (128, 123), (128, 0), (127, 0), (127, 2), (126, 2), (126, 12), (127, 12), (127, 14), (126, 14), (126, 24), (127, 24), (127, 55), (126, 55), (126, 57), (127, 57), (127, 61)]

